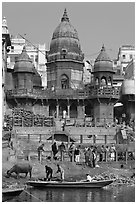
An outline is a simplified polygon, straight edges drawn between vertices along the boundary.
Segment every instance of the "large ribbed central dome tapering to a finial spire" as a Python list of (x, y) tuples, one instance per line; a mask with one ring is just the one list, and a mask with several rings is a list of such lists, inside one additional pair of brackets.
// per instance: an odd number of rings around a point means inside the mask
[(83, 60), (83, 54), (76, 29), (71, 25), (66, 9), (64, 11), (61, 23), (55, 29), (51, 44), (49, 56), (55, 56), (56, 59), (61, 55), (66, 55), (68, 59)]

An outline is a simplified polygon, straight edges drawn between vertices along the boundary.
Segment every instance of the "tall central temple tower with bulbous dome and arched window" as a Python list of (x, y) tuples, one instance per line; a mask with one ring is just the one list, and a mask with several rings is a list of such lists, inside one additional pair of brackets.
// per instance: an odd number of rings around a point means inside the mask
[(83, 58), (78, 33), (70, 24), (66, 9), (55, 29), (47, 54), (47, 86), (55, 89), (80, 88)]

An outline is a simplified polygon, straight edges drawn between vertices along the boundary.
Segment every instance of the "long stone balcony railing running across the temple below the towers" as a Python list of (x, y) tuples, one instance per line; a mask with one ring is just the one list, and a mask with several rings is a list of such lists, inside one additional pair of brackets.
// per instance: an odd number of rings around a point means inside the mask
[(13, 89), (6, 91), (7, 97), (30, 97), (40, 99), (86, 99), (95, 97), (112, 97), (119, 98), (120, 87), (95, 87), (89, 91), (86, 89), (51, 89), (36, 90), (36, 89)]

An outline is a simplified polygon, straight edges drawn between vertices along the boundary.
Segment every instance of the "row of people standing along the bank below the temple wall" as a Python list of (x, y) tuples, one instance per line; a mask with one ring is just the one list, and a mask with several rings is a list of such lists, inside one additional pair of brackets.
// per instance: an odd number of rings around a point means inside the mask
[[(81, 146), (76, 146), (74, 142), (70, 144), (69, 147), (66, 147), (64, 142), (62, 142), (59, 146), (54, 142), (51, 146), (52, 149), (52, 158), (55, 160), (64, 161), (65, 153), (68, 153), (70, 162), (80, 162), (81, 153), (84, 153), (85, 156), (85, 164), (90, 167), (95, 167), (96, 162), (102, 161), (115, 161), (116, 159), (116, 149), (115, 145), (112, 144), (110, 146), (95, 146), (91, 145), (90, 147), (85, 147), (84, 151), (81, 149)], [(41, 152), (45, 152), (44, 144), (38, 147), (38, 160), (41, 162)], [(59, 154), (57, 155), (57, 153)]]

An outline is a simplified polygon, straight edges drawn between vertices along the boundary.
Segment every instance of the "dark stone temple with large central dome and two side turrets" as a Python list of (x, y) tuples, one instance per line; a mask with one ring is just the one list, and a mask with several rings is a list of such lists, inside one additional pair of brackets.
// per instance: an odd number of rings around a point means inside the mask
[(36, 121), (42, 126), (51, 118), (88, 118), (91, 125), (113, 123), (113, 105), (119, 99), (119, 88), (113, 87), (112, 61), (102, 46), (94, 63), (93, 83), (84, 86), (83, 59), (78, 33), (65, 10), (47, 53), (47, 88), (42, 88), (41, 77), (24, 46), (14, 69), (6, 73), (7, 113), (13, 117), (14, 109), (28, 111), (25, 116), (20, 112), (20, 118), (16, 117), (20, 124), (29, 121), (27, 126)]

